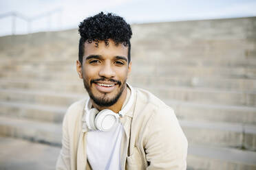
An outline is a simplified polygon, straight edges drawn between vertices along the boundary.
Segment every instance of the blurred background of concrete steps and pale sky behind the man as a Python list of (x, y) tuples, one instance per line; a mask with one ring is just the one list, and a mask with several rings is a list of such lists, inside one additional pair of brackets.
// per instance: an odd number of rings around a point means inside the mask
[(131, 23), (128, 82), (173, 107), (187, 169), (256, 169), (255, 9), (252, 0), (0, 0), (0, 169), (54, 169), (65, 110), (87, 97), (77, 27), (100, 11)]

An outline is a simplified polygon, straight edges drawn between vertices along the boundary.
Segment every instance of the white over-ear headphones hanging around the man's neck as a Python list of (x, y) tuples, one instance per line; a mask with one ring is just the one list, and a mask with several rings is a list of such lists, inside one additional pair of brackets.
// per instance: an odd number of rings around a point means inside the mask
[(123, 117), (125, 113), (129, 111), (134, 103), (134, 90), (128, 83), (127, 85), (131, 89), (131, 95), (129, 97), (129, 101), (125, 105), (125, 108), (120, 110), (118, 113), (109, 109), (104, 109), (99, 112), (96, 108), (92, 108), (91, 99), (87, 99), (85, 104), (85, 121), (89, 130), (108, 131), (116, 124), (119, 117)]

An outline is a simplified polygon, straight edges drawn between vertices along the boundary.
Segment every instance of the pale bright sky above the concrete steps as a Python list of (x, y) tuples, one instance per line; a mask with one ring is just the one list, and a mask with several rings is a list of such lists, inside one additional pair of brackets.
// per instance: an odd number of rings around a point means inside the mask
[[(255, 9), (256, 0), (0, 0), (0, 36), (77, 28), (83, 19), (101, 11), (133, 24), (256, 16)], [(9, 12), (32, 22), (3, 17)]]

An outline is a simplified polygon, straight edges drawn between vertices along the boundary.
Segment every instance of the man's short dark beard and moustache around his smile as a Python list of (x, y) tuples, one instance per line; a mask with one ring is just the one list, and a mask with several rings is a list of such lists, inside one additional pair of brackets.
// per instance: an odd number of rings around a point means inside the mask
[[(92, 80), (90, 82), (90, 85), (92, 86), (92, 83), (94, 83), (96, 81), (104, 81), (104, 80), (105, 80), (104, 78), (98, 79), (98, 80)], [(112, 106), (112, 105), (116, 104), (116, 101), (118, 101), (118, 99), (122, 95), (122, 91), (125, 89), (125, 86), (126, 86), (126, 80), (123, 83), (121, 83), (119, 81), (116, 81), (116, 80), (110, 80), (110, 81), (111, 82), (117, 82), (118, 84), (116, 84), (116, 85), (120, 86), (120, 90), (118, 91), (117, 95), (114, 96), (112, 99), (108, 99), (107, 93), (105, 93), (105, 95), (103, 97), (95, 97), (94, 94), (92, 94), (91, 87), (86, 82), (85, 78), (83, 78), (83, 84), (85, 86), (85, 89), (87, 90), (87, 93), (89, 94), (89, 97), (94, 101), (94, 103), (96, 105), (102, 106), (102, 107)]]

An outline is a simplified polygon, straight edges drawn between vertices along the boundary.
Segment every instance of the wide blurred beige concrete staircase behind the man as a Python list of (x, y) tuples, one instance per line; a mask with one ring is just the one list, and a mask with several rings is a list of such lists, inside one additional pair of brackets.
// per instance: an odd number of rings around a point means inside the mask
[[(256, 17), (132, 28), (128, 81), (174, 108), (189, 141), (187, 169), (256, 169)], [(32, 141), (56, 160), (65, 110), (87, 97), (75, 69), (77, 30), (1, 37), (0, 56), (6, 148)], [(2, 162), (0, 169), (10, 168)], [(48, 162), (41, 169), (54, 169)]]

